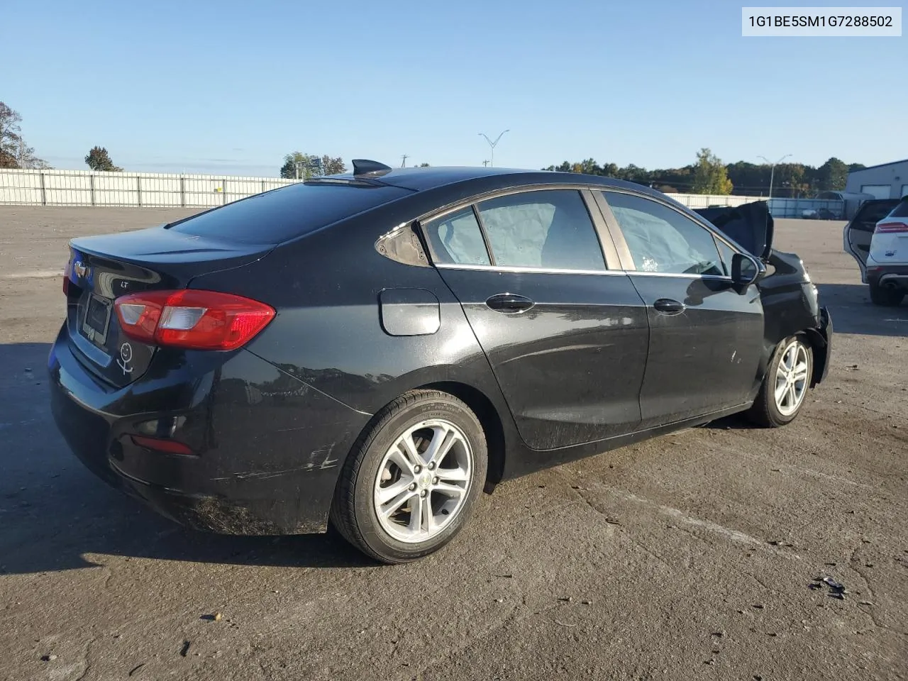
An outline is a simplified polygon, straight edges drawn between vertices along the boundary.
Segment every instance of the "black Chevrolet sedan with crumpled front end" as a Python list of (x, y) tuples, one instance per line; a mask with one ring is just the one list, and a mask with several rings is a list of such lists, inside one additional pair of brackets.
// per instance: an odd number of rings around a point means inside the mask
[(185, 525), (331, 522), (400, 563), (501, 480), (738, 411), (795, 419), (832, 325), (772, 233), (762, 202), (356, 161), (71, 242), (54, 418)]

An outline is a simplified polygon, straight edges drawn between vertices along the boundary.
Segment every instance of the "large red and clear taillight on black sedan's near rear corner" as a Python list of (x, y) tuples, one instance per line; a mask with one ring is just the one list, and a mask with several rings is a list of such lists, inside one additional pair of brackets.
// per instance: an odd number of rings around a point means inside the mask
[(262, 331), (274, 309), (218, 291), (147, 291), (114, 302), (130, 338), (192, 350), (236, 350)]

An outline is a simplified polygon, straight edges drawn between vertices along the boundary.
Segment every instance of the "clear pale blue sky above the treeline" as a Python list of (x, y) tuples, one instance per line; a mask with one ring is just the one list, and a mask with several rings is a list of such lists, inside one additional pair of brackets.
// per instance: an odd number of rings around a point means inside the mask
[(294, 150), (478, 165), (478, 133), (505, 128), (511, 167), (908, 156), (908, 38), (743, 38), (735, 3), (4, 5), (0, 100), (60, 168), (94, 144), (151, 172), (275, 175)]

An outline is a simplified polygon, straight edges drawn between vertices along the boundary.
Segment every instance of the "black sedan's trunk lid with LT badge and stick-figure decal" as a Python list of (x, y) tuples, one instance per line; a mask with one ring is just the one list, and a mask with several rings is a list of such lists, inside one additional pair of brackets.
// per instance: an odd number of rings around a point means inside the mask
[(64, 275), (76, 356), (114, 388), (139, 379), (155, 346), (127, 338), (114, 301), (127, 293), (188, 287), (193, 278), (254, 262), (272, 244), (223, 242), (163, 227), (74, 239)]

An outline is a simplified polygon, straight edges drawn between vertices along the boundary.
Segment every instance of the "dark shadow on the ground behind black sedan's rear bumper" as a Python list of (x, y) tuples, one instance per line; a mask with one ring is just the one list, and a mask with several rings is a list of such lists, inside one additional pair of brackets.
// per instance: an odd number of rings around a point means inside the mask
[(376, 565), (333, 532), (231, 537), (182, 528), (75, 459), (49, 409), (48, 343), (0, 345), (0, 574), (90, 568), (105, 556), (245, 566)]

